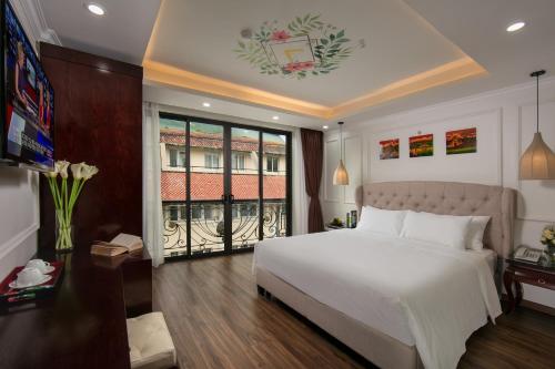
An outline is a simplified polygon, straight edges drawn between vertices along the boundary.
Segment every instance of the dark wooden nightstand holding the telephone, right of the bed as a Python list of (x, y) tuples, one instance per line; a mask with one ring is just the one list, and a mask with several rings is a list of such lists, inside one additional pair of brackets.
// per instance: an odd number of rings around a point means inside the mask
[[(555, 290), (555, 265), (544, 263), (526, 263), (514, 258), (505, 259), (508, 264), (503, 274), (503, 283), (508, 297), (508, 308), (505, 314), (509, 314), (522, 301), (522, 284), (534, 285), (542, 288)], [(513, 293), (513, 285), (515, 294)]]

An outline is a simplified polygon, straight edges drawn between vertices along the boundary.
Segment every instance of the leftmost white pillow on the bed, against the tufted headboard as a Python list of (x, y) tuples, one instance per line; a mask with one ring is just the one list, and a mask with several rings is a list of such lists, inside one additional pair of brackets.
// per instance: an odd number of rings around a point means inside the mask
[(398, 237), (406, 211), (385, 211), (364, 206), (356, 229), (372, 230)]

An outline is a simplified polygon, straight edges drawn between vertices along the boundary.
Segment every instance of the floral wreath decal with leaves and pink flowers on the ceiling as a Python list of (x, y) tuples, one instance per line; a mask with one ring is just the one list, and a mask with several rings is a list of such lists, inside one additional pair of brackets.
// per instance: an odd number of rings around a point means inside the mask
[(345, 37), (345, 30), (324, 23), (320, 14), (296, 17), (286, 27), (278, 21), (264, 22), (250, 38), (239, 40), (233, 50), (262, 74), (302, 80), (309, 75), (325, 75), (340, 68), (357, 44)]

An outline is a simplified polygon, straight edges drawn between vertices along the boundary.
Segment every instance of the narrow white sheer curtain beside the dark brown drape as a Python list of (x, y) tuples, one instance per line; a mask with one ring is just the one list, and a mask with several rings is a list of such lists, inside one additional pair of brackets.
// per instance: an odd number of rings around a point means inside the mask
[(301, 130), (293, 131), (293, 235), (309, 232), (309, 196), (304, 184), (303, 144)]

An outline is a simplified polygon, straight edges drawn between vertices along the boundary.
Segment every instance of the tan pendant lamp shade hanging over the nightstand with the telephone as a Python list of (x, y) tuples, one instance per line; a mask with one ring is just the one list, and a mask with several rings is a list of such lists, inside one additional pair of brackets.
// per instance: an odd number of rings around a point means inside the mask
[(534, 133), (534, 140), (521, 157), (521, 180), (555, 180), (555, 154), (545, 144), (542, 133)]

